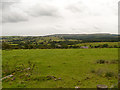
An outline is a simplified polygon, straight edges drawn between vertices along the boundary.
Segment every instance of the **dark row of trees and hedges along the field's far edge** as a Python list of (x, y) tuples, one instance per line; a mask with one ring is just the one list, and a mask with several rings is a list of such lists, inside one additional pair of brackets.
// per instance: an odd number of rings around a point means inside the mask
[(18, 45), (10, 45), (8, 43), (2, 43), (2, 49), (55, 49), (55, 48), (61, 48), (61, 49), (68, 49), (68, 48), (120, 48), (118, 45), (110, 46), (108, 44), (102, 44), (102, 45), (84, 45), (84, 46), (77, 46), (77, 45), (68, 45), (68, 44), (27, 44), (22, 43)]

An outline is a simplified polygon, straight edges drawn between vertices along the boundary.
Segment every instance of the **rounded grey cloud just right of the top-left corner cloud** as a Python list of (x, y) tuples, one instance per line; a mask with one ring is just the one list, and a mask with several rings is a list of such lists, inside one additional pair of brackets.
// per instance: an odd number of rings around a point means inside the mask
[(34, 17), (39, 16), (58, 16), (58, 10), (54, 6), (46, 4), (37, 4), (27, 11), (28, 14)]

